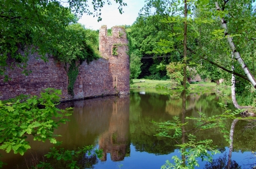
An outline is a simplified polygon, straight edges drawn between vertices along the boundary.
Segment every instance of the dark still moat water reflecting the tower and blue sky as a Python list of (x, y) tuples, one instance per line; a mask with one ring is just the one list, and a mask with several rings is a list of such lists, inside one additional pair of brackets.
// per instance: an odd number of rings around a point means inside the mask
[[(204, 112), (207, 117), (221, 114), (223, 109), (218, 102), (232, 104), (215, 94), (189, 94), (186, 97), (186, 116), (199, 117)], [(61, 105), (74, 107), (74, 113), (67, 124), (62, 124), (56, 131), (61, 147), (76, 149), (84, 145), (95, 145), (104, 151), (102, 159), (93, 161), (93, 168), (161, 168), (165, 161), (172, 161), (172, 156), (179, 156), (177, 142), (156, 135), (157, 128), (151, 121), (164, 122), (174, 116), (182, 115), (182, 98), (180, 93), (168, 93), (156, 89), (132, 89), (130, 96), (105, 97), (76, 101)], [(227, 128), (230, 128), (227, 121)], [(189, 121), (187, 128), (193, 127)], [(246, 121), (236, 124), (234, 133), (234, 152), (232, 159), (242, 168), (250, 168), (248, 164), (256, 163), (252, 151), (256, 149), (255, 129), (244, 130)], [(211, 129), (195, 133), (199, 139), (212, 139), (222, 154), (228, 154), (228, 143), (220, 133), (220, 129)], [(29, 168), (43, 158), (53, 145), (49, 142), (31, 142), (31, 149), (20, 156), (1, 152), (1, 160), (8, 165), (4, 168)], [(200, 161), (200, 159), (199, 159)], [(204, 168), (205, 162), (200, 162)], [(54, 168), (63, 168), (56, 165)]]

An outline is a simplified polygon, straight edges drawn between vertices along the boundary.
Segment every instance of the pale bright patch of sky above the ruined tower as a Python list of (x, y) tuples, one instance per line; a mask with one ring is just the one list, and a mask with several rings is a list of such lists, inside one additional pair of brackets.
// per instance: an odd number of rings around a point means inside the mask
[(127, 6), (123, 7), (124, 13), (119, 13), (118, 5), (111, 1), (111, 5), (105, 4), (101, 11), (102, 20), (97, 22), (97, 17), (92, 15), (83, 15), (79, 19), (79, 23), (88, 29), (97, 30), (101, 26), (106, 25), (108, 29), (113, 26), (132, 25), (138, 17), (138, 13), (145, 4), (145, 0), (126, 0)]

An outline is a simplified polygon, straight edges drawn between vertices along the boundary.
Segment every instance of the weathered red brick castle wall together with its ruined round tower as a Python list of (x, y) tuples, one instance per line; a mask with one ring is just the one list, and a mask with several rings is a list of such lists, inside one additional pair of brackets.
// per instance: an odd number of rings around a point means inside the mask
[[(100, 28), (100, 54), (102, 58), (79, 67), (79, 75), (74, 85), (74, 99), (114, 94), (129, 94), (129, 55), (127, 55), (127, 37), (122, 27), (113, 27), (112, 36), (107, 36), (107, 27)], [(117, 55), (113, 55), (114, 50)], [(20, 94), (39, 95), (42, 89), (52, 87), (62, 90), (62, 99), (73, 99), (67, 93), (68, 76), (64, 64), (49, 58), (48, 62), (38, 59), (38, 55), (29, 55), (26, 76), (22, 69), (8, 69), (12, 80), (4, 82), (0, 77), (0, 99), (9, 99)], [(12, 62), (12, 61), (10, 61)]]

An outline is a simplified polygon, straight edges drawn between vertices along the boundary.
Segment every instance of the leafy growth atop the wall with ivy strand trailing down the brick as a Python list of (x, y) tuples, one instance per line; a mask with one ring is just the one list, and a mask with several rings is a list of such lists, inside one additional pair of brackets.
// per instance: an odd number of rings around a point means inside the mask
[[(86, 61), (99, 58), (99, 34), (84, 29), (81, 24), (72, 24), (65, 29), (64, 37), (53, 43), (51, 50), (57, 61), (64, 62), (68, 75), (68, 93), (74, 96), (74, 84), (79, 73), (79, 66)], [(69, 66), (67, 66), (69, 64)]]

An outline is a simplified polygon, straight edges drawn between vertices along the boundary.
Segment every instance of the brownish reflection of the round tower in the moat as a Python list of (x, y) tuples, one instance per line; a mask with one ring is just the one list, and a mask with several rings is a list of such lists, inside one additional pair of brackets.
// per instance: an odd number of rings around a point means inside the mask
[(107, 153), (112, 161), (122, 161), (129, 156), (129, 133), (129, 96), (124, 96), (113, 101), (108, 131), (99, 137), (99, 149), (104, 152), (101, 161), (107, 160)]

